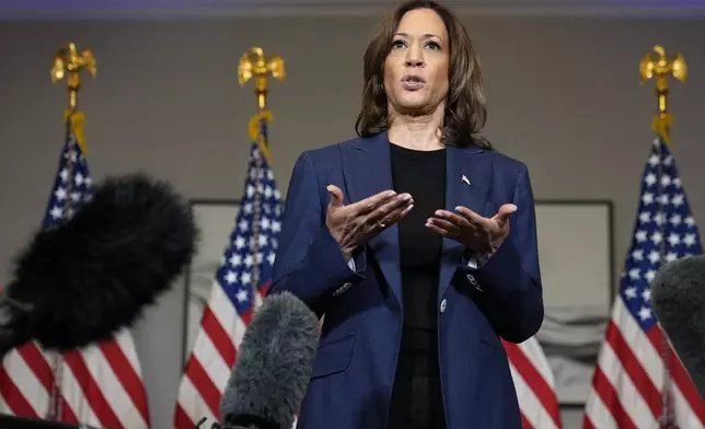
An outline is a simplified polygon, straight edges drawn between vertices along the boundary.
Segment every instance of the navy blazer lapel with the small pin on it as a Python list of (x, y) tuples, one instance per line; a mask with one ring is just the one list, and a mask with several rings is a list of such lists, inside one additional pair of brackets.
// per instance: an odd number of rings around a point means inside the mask
[[(477, 147), (446, 150), (446, 210), (455, 212), (455, 207), (463, 206), (483, 215), (489, 181), (492, 163), (484, 151)], [(443, 237), (441, 269), (438, 299), (440, 300), (450, 285), (450, 280), (463, 257), (464, 246), (454, 240)]]

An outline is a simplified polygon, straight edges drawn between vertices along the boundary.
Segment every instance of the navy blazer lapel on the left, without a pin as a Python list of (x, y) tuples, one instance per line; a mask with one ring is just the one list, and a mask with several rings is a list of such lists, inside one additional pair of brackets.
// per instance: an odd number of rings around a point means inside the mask
[[(342, 146), (343, 174), (349, 202), (358, 202), (392, 189), (392, 167), (386, 132)], [(347, 204), (349, 204), (347, 202)], [(377, 258), (388, 285), (402, 305), (402, 274), (398, 253), (398, 228), (392, 224), (370, 240), (368, 248)]]

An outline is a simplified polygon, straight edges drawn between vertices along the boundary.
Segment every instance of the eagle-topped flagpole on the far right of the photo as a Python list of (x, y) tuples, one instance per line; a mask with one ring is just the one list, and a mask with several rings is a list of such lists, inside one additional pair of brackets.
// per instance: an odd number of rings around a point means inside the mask
[[(657, 57), (652, 55), (655, 53)], [(648, 79), (656, 78), (656, 96), (658, 100), (658, 115), (651, 120), (651, 129), (656, 131), (659, 138), (668, 146), (670, 146), (670, 128), (673, 125), (673, 116), (668, 112), (668, 95), (669, 95), (669, 80), (673, 76), (681, 82), (684, 82), (687, 74), (687, 67), (681, 54), (677, 54), (672, 61), (666, 57), (666, 50), (662, 46), (656, 45), (652, 53), (647, 53), (639, 62), (639, 77), (642, 83)], [(666, 237), (663, 236), (663, 224), (668, 221), (663, 212), (663, 206), (667, 201), (663, 200), (663, 184), (661, 183), (662, 176), (662, 151), (661, 143), (657, 144), (657, 153), (659, 158), (656, 179), (657, 179), (657, 196), (658, 215), (655, 221), (659, 228), (661, 241), (659, 242), (659, 266), (666, 259)], [(671, 346), (669, 344), (666, 333), (661, 332), (661, 359), (663, 360), (663, 387), (661, 390), (661, 416), (659, 418), (659, 427), (661, 429), (674, 429), (675, 425), (673, 395), (671, 393)]]

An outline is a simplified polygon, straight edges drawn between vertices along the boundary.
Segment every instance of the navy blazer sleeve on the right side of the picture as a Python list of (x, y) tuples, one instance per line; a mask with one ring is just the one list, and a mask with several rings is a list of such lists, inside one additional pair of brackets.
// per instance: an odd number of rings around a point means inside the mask
[(509, 236), (481, 267), (461, 264), (477, 283), (475, 302), (504, 339), (522, 343), (533, 336), (544, 317), (543, 288), (539, 268), (536, 216), (529, 172), (518, 175)]

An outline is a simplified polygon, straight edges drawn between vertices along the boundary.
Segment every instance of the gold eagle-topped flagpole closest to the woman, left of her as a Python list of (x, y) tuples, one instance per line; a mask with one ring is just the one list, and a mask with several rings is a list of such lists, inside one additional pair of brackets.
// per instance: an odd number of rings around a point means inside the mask
[[(259, 187), (262, 186), (262, 174), (264, 174), (262, 162), (264, 160), (269, 162), (269, 148), (267, 136), (264, 132), (266, 125), (271, 121), (271, 113), (267, 111), (267, 95), (268, 95), (268, 78), (271, 74), (274, 78), (284, 82), (286, 77), (284, 59), (279, 56), (271, 56), (268, 60), (265, 58), (264, 50), (259, 46), (253, 46), (249, 51), (244, 53), (240, 58), (238, 66), (238, 81), (241, 86), (244, 86), (251, 79), (254, 78), (255, 95), (257, 97), (257, 115), (250, 119), (249, 134), (253, 142), (257, 142), (261, 155), (255, 158), (255, 165), (257, 175), (255, 181), (255, 204), (253, 207), (253, 222), (252, 222), (252, 240), (250, 247), (252, 255), (254, 255), (253, 273), (252, 273), (252, 297), (253, 302), (258, 295), (259, 286), (259, 263), (262, 262), (259, 255), (259, 224), (262, 218), (262, 195)], [(264, 255), (262, 256), (264, 257)]]

